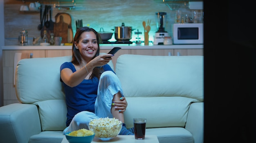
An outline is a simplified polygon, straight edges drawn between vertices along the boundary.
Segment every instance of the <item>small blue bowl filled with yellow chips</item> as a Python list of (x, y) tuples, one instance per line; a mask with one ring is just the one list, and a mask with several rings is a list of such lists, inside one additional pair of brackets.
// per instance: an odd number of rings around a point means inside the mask
[(75, 130), (65, 134), (69, 143), (91, 143), (94, 139), (94, 132), (87, 129)]

